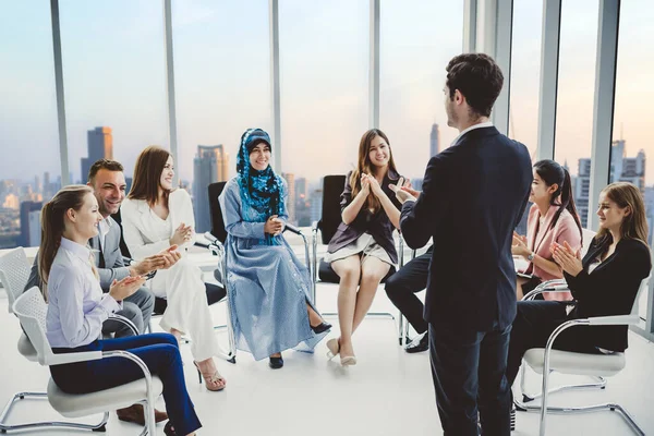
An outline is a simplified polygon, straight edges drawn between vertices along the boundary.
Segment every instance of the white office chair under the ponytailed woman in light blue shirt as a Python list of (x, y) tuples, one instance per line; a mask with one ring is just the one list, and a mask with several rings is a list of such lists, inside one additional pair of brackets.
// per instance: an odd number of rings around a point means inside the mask
[[(155, 435), (154, 402), (162, 391), (162, 384), (158, 377), (153, 377), (145, 363), (128, 351), (87, 351), (66, 354), (55, 354), (46, 338), (46, 313), (48, 306), (37, 287), (34, 287), (16, 299), (13, 312), (21, 320), (29, 342), (33, 344), (32, 353), (26, 356), (35, 358), (44, 365), (60, 365), (64, 363), (85, 362), (105, 358), (123, 358), (136, 363), (143, 371), (144, 378), (117, 386), (114, 388), (90, 393), (66, 393), (50, 379), (47, 393), (38, 393), (35, 398), (48, 398), (50, 405), (65, 417), (81, 417), (96, 413), (104, 413), (98, 424), (78, 424), (70, 422), (41, 422), (24, 424), (22, 428), (35, 427), (68, 427), (104, 432), (109, 419), (110, 410), (122, 409), (134, 403), (142, 403), (145, 411), (146, 425), (141, 435)], [(21, 342), (19, 342), (21, 347)], [(26, 350), (21, 350), (23, 353)], [(25, 355), (25, 354), (24, 354)], [(11, 405), (9, 405), (11, 407)], [(9, 428), (16, 429), (16, 427)]]

